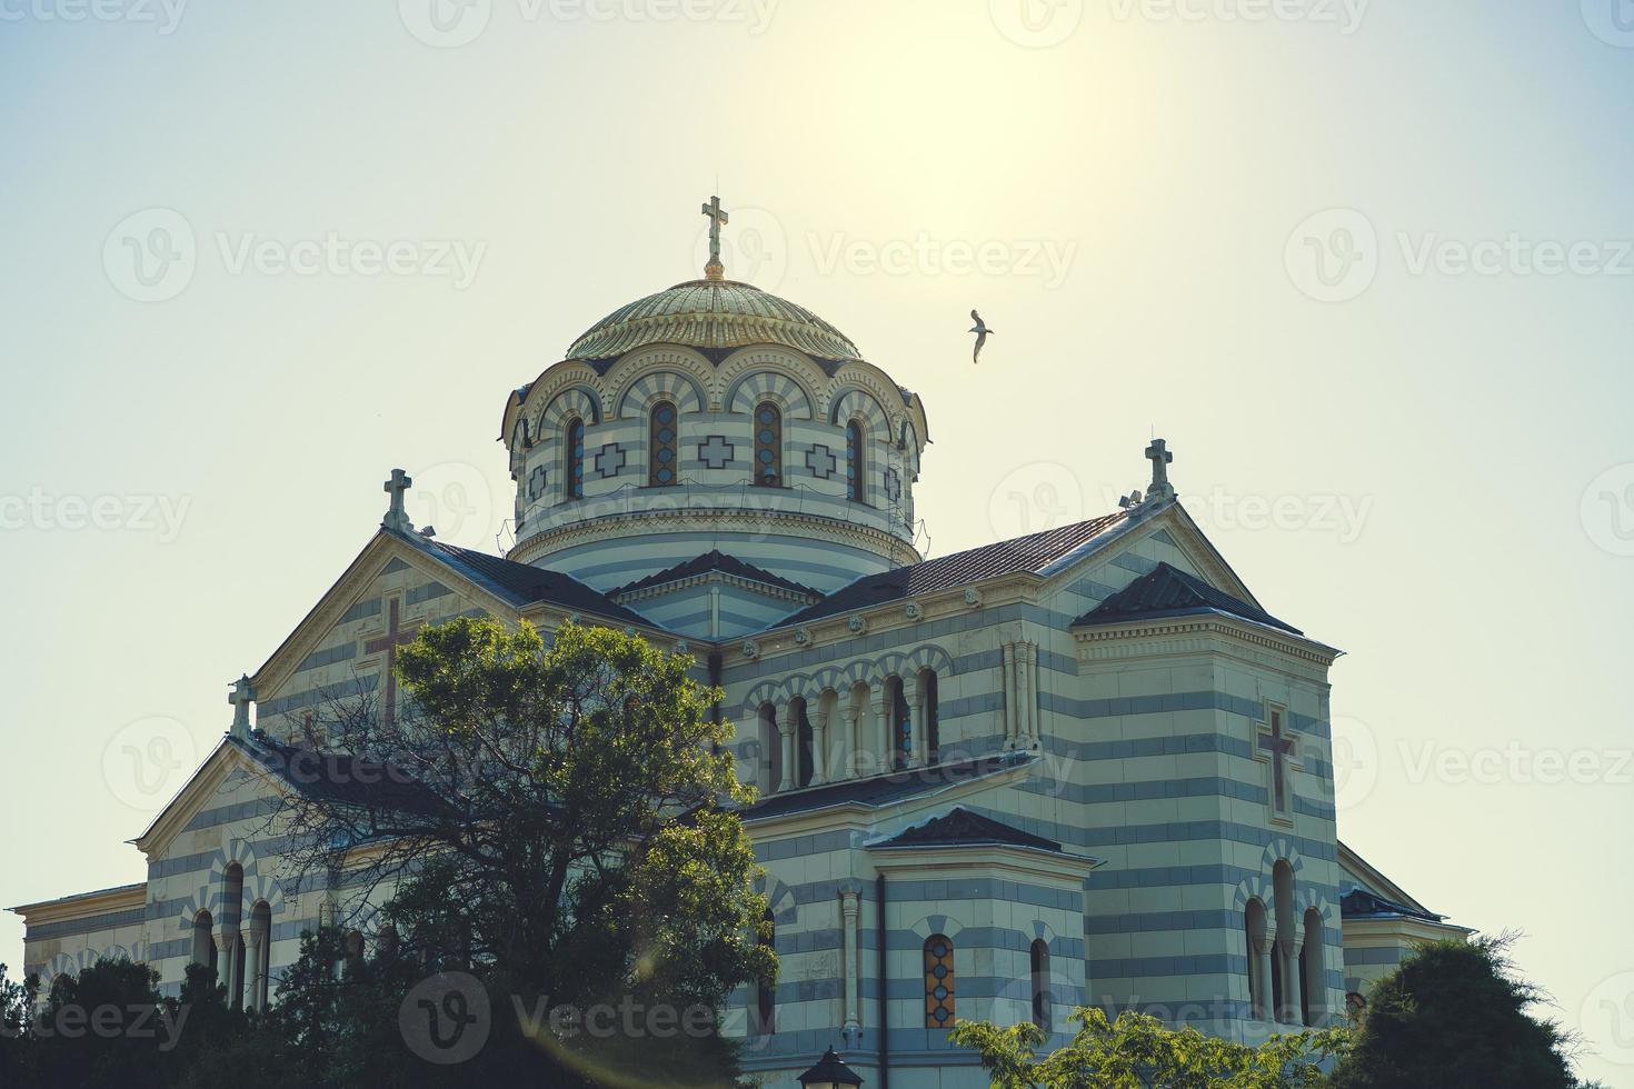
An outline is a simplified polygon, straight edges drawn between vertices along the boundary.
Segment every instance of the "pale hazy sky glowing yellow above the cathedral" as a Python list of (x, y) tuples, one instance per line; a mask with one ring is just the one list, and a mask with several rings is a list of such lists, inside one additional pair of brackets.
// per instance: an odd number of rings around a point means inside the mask
[(1348, 651), (1340, 834), (1634, 1086), (1627, 0), (0, 0), (0, 903), (144, 875), (126, 748), (208, 751), (389, 469), (492, 542), (507, 392), (719, 178), (925, 397), (931, 552), (1155, 426)]

